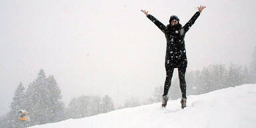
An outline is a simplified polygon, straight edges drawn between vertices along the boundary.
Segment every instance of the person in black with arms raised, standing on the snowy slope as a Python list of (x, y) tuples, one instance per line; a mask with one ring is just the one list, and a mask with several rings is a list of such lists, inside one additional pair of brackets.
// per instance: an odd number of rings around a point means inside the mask
[(169, 19), (169, 25), (165, 26), (163, 23), (158, 21), (153, 15), (150, 15), (148, 11), (141, 10), (147, 17), (159, 27), (159, 29), (165, 34), (167, 39), (167, 48), (165, 54), (165, 87), (163, 91), (163, 103), (162, 107), (166, 107), (168, 101), (168, 91), (171, 86), (171, 78), (173, 77), (174, 68), (178, 68), (179, 71), (179, 84), (181, 87), (181, 108), (186, 107), (186, 82), (185, 72), (187, 68), (187, 55), (185, 49), (184, 37), (190, 27), (195, 23), (197, 17), (205, 9), (205, 6), (197, 7), (198, 11), (193, 17), (182, 27), (179, 23), (179, 18), (176, 15), (171, 15)]

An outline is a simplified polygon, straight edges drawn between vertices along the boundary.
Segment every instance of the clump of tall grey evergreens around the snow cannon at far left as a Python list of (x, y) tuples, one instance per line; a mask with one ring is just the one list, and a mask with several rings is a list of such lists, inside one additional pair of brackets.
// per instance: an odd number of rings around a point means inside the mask
[(65, 105), (61, 101), (61, 89), (50, 75), (45, 77), (45, 72), (40, 70), (37, 79), (29, 84), (25, 91), (22, 83), (15, 90), (11, 111), (1, 118), (0, 123), (5, 127), (25, 127), (19, 121), (19, 110), (27, 111), (29, 126), (52, 123), (66, 119)]

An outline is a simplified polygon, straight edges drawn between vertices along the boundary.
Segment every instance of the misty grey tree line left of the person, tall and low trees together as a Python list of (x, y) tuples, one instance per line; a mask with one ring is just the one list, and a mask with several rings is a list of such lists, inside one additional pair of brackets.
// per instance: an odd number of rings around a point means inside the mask
[[(82, 95), (73, 98), (67, 107), (61, 99), (61, 89), (57, 81), (53, 75), (46, 77), (45, 72), (41, 69), (37, 79), (30, 83), (27, 89), (22, 83), (19, 83), (10, 105), (11, 110), (0, 118), (0, 127), (30, 127), (107, 113), (115, 109), (113, 101), (108, 95), (102, 98)], [(27, 111), (28, 123), (19, 121), (20, 110)]]

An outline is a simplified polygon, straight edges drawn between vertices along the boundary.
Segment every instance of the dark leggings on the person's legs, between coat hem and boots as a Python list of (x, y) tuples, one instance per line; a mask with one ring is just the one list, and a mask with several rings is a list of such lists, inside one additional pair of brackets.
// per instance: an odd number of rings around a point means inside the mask
[[(173, 77), (173, 70), (174, 68), (171, 68), (166, 71), (166, 79), (165, 79), (165, 88), (163, 91), (163, 95), (167, 95), (169, 88), (171, 87), (171, 77)], [(183, 98), (186, 97), (186, 81), (185, 81), (185, 73), (186, 73), (186, 67), (179, 67), (179, 86), (181, 87), (181, 94)]]

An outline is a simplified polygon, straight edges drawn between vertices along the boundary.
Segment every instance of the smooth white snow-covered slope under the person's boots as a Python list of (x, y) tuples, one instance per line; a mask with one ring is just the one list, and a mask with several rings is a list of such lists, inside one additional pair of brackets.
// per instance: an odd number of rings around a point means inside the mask
[(255, 106), (256, 85), (241, 85), (189, 96), (185, 109), (181, 109), (178, 99), (169, 101), (165, 109), (161, 103), (154, 103), (33, 128), (255, 128)]

